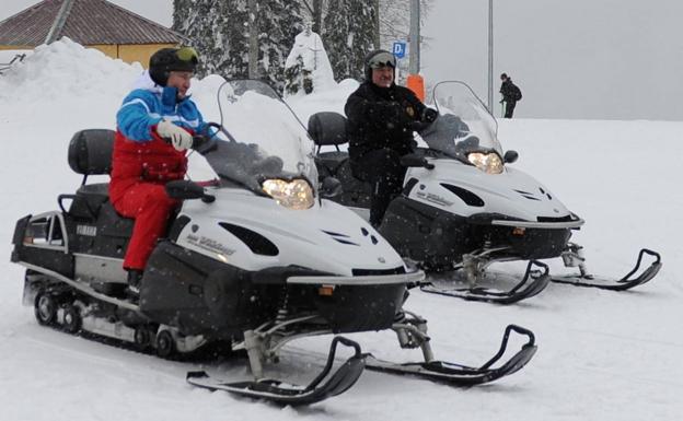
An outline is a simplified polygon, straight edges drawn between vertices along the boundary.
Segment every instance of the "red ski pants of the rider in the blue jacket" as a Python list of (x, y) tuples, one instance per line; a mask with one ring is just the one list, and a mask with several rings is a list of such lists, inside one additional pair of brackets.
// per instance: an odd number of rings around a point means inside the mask
[(114, 203), (118, 213), (136, 220), (124, 258), (125, 269), (144, 269), (157, 239), (166, 231), (171, 211), (178, 203), (166, 195), (164, 185), (151, 183), (131, 186)]

